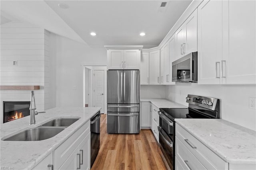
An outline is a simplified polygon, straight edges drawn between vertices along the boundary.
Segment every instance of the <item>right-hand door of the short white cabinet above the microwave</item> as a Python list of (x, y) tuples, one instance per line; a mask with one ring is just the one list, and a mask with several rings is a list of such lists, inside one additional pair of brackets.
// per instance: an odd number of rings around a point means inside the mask
[(185, 44), (184, 55), (197, 51), (197, 9), (184, 23)]

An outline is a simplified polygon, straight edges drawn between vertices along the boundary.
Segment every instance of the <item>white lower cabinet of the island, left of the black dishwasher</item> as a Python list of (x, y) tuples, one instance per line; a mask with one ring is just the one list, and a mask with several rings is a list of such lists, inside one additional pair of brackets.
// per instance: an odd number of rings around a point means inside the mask
[(90, 121), (87, 121), (33, 170), (89, 170), (90, 134)]

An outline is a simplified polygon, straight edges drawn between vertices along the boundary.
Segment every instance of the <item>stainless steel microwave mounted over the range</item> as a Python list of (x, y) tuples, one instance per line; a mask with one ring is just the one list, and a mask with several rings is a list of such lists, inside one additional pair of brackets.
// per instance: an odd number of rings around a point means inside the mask
[(173, 82), (197, 82), (197, 52), (172, 62)]

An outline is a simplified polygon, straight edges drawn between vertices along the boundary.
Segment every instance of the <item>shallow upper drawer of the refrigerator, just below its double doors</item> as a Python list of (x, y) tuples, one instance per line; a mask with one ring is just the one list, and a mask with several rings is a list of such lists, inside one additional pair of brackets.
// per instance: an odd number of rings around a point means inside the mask
[(108, 104), (108, 112), (140, 112), (140, 104)]

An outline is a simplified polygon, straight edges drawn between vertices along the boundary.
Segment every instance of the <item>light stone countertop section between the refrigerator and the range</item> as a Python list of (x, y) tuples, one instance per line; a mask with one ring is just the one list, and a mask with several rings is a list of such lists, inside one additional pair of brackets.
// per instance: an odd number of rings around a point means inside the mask
[(188, 108), (188, 106), (167, 100), (167, 99), (156, 99), (156, 98), (140, 98), (140, 102), (151, 102), (159, 108)]

